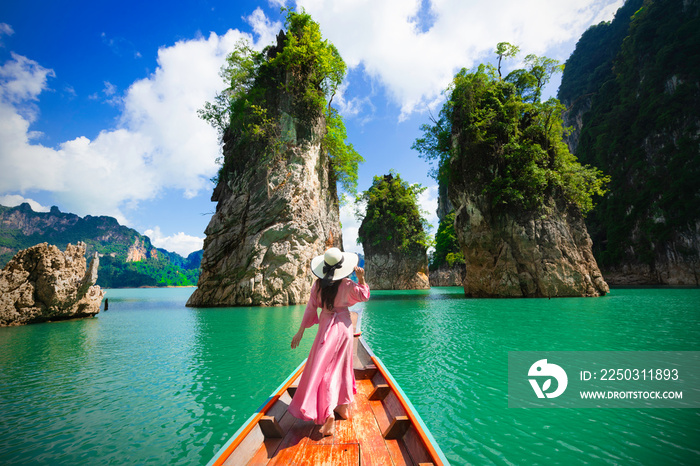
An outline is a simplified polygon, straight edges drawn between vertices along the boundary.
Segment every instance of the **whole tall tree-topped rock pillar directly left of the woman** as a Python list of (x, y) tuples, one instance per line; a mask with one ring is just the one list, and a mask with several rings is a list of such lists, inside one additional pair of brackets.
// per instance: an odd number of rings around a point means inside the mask
[(289, 10), (286, 27), (262, 52), (239, 43), (201, 112), (223, 159), (188, 306), (304, 303), (311, 259), (342, 248), (337, 185), (352, 193), (362, 161), (331, 106), (346, 66), (309, 15)]

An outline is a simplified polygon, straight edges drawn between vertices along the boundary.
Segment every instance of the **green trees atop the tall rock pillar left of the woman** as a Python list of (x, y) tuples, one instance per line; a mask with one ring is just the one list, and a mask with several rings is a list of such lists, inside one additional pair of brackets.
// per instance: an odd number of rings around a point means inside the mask
[(262, 52), (239, 42), (221, 71), (228, 87), (199, 112), (225, 142), (214, 181), (242, 176), (284, 157), (289, 143), (315, 136), (313, 127), (323, 116), (322, 148), (330, 158), (332, 179), (355, 193), (363, 159), (346, 142), (342, 117), (331, 106), (345, 77), (345, 62), (308, 14), (287, 10), (286, 28), (282, 43)]

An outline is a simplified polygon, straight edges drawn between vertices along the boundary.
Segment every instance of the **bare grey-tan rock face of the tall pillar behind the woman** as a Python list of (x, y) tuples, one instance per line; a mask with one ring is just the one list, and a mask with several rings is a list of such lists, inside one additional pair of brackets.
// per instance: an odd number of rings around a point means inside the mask
[[(281, 33), (268, 56), (284, 47)], [(289, 80), (283, 69), (277, 72), (273, 82)], [(265, 93), (266, 111), (275, 115), (275, 148), (242, 143), (247, 136), (226, 131), (228, 171), (212, 196), (216, 212), (205, 230), (201, 275), (188, 306), (305, 303), (313, 284), (311, 259), (329, 247), (342, 249), (336, 179), (321, 148), (325, 118), (321, 110), (297, 117), (298, 101), (280, 87), (267, 86)], [(261, 154), (271, 150), (278, 152), (261, 163)]]

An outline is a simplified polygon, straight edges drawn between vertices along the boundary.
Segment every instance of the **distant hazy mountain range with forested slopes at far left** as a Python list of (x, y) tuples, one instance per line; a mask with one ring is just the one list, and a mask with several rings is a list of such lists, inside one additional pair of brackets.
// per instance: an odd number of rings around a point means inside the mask
[(0, 206), (0, 267), (20, 250), (39, 243), (65, 249), (68, 243), (87, 244), (87, 255), (100, 256), (97, 284), (105, 288), (196, 285), (202, 251), (189, 256), (156, 248), (148, 236), (120, 225), (113, 217), (79, 217), (34, 212), (29, 204)]

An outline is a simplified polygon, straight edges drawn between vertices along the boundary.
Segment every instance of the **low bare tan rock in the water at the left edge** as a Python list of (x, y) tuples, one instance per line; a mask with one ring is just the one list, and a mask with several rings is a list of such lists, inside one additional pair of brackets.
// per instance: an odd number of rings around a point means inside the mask
[(0, 326), (90, 317), (104, 291), (95, 254), (86, 271), (85, 243), (65, 252), (48, 243), (20, 251), (0, 271)]

